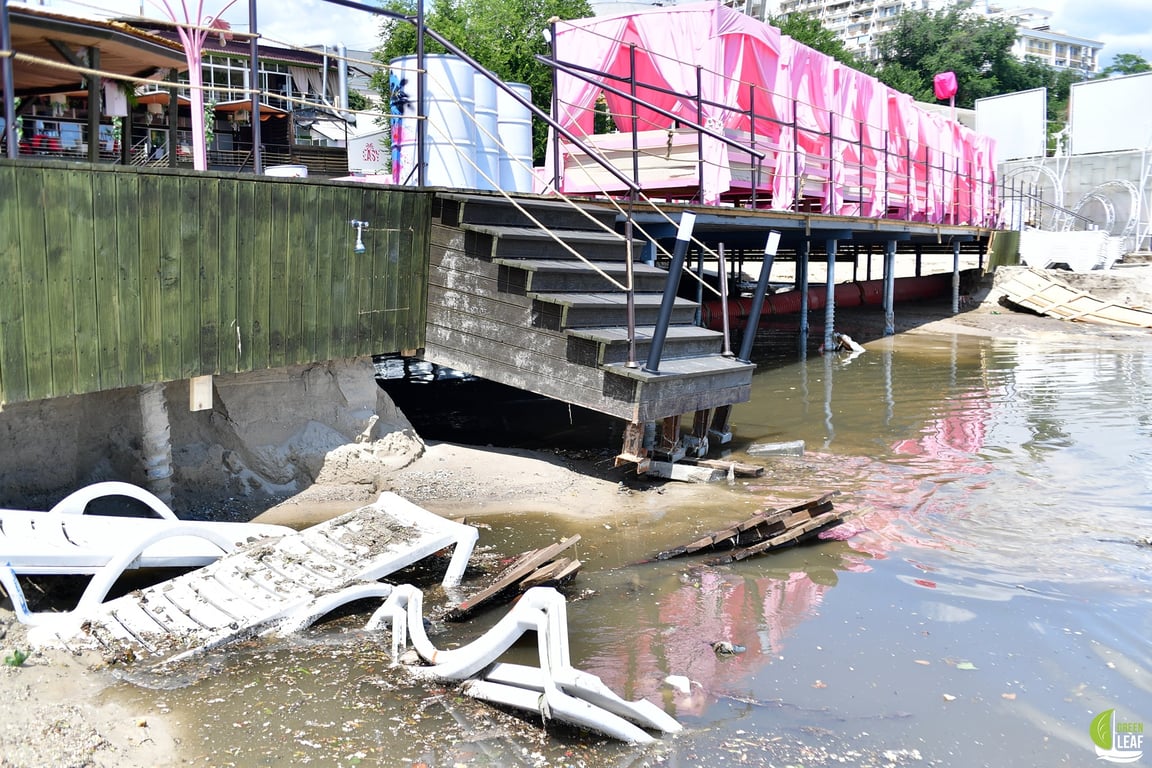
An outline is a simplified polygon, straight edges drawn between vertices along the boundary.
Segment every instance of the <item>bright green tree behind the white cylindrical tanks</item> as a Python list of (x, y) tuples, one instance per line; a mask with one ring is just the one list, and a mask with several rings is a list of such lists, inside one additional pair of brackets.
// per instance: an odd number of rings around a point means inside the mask
[[(391, 10), (414, 17), (412, 0), (391, 0)], [(592, 15), (588, 0), (432, 0), (425, 6), (424, 24), (435, 30), (508, 83), (526, 83), (532, 101), (544, 112), (552, 104), (552, 71), (535, 56), (551, 53), (544, 31), (548, 20), (584, 18)], [(444, 53), (442, 46), (425, 41), (426, 53)], [(387, 64), (393, 59), (416, 53), (416, 26), (391, 20), (381, 25), (381, 45), (374, 55)], [(372, 78), (385, 102), (388, 100), (388, 74)], [(415, 93), (409, 96), (415, 97)], [(544, 157), (547, 129), (533, 122), (535, 155)]]

